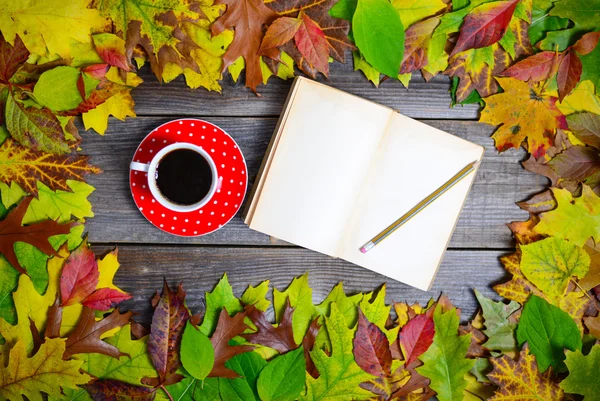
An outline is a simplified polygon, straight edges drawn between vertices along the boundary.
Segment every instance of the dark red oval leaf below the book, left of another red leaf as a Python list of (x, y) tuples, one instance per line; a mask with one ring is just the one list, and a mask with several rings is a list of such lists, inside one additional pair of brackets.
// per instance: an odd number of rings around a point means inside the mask
[(391, 374), (390, 343), (381, 329), (369, 322), (360, 309), (358, 327), (352, 343), (354, 358), (362, 370), (375, 376)]

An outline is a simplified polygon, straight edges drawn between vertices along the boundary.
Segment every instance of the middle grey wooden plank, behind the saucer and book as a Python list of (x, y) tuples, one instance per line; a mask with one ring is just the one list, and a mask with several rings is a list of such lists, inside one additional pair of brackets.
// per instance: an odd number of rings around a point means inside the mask
[[(128, 166), (138, 143), (166, 117), (141, 117), (125, 122), (113, 121), (105, 137), (88, 133), (84, 153), (104, 170), (88, 178), (96, 187), (90, 196), (96, 216), (87, 223), (95, 242), (188, 243), (220, 245), (271, 245), (272, 240), (248, 229), (239, 215), (221, 230), (197, 238), (181, 238), (153, 227), (136, 209), (129, 192)], [(244, 152), (252, 182), (273, 132), (274, 118), (223, 118), (207, 120), (223, 127)], [(428, 120), (427, 124), (456, 134), (486, 147), (482, 166), (457, 225), (450, 247), (507, 248), (512, 239), (506, 223), (522, 220), (527, 214), (514, 202), (539, 192), (546, 179), (526, 172), (519, 164), (523, 151), (498, 154), (489, 138), (493, 127), (473, 121)], [(435, 163), (435, 160), (423, 160)], [(410, 188), (408, 188), (410, 190)], [(275, 243), (277, 244), (277, 243)]]

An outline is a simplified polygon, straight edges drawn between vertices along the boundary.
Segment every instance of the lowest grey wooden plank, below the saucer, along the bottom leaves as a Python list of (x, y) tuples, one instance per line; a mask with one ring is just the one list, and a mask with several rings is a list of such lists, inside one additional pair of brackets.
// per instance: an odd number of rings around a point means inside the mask
[[(94, 246), (97, 253), (109, 249), (106, 245)], [(115, 283), (133, 295), (123, 304), (123, 309), (140, 313), (136, 320), (144, 324), (150, 322), (150, 298), (156, 290), (161, 290), (163, 278), (172, 286), (183, 283), (188, 306), (197, 313), (204, 311), (205, 292), (211, 291), (225, 273), (234, 293), (241, 296), (248, 285), (257, 285), (263, 280), (269, 280), (271, 288), (283, 290), (294, 277), (309, 272), (315, 303), (321, 302), (339, 282), (344, 283), (348, 294), (372, 291), (387, 283), (388, 304), (392, 301), (423, 304), (443, 292), (462, 309), (463, 319), (470, 319), (478, 308), (473, 288), (499, 299), (491, 286), (508, 278), (498, 260), (502, 254), (501, 251), (450, 250), (431, 291), (425, 292), (341, 259), (300, 248), (124, 245), (119, 247), (121, 267)]]

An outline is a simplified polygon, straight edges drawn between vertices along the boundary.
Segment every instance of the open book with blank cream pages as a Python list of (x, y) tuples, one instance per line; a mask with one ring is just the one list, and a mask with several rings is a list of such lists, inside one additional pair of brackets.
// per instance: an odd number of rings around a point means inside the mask
[(430, 288), (475, 174), (366, 254), (360, 247), (483, 147), (298, 77), (246, 210), (250, 228)]

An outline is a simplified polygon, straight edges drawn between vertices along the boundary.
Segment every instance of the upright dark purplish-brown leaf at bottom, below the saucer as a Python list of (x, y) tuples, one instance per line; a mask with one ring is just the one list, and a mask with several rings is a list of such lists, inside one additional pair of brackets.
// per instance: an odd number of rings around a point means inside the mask
[[(189, 317), (181, 284), (177, 292), (173, 292), (165, 280), (162, 297), (152, 315), (150, 336), (146, 344), (160, 384), (171, 379), (181, 364), (179, 345)], [(148, 380), (145, 378), (142, 383), (148, 384)]]

